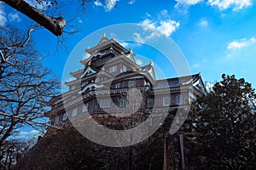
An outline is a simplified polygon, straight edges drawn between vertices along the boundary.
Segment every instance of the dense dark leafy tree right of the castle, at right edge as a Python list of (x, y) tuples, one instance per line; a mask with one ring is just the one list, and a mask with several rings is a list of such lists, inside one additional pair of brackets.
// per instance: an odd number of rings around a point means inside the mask
[(195, 161), (198, 169), (253, 169), (256, 94), (243, 78), (222, 78), (207, 96), (195, 101)]

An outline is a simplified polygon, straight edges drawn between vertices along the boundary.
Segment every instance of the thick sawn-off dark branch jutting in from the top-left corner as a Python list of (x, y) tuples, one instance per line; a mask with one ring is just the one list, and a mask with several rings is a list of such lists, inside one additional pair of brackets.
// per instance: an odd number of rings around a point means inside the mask
[(30, 4), (23, 0), (0, 0), (7, 3), (12, 8), (25, 14), (30, 19), (38, 22), (41, 26), (44, 26), (47, 30), (51, 31), (55, 36), (61, 36), (63, 33), (63, 27), (66, 26), (66, 21), (62, 17), (54, 18), (46, 14), (41, 13), (37, 8), (33, 8)]

